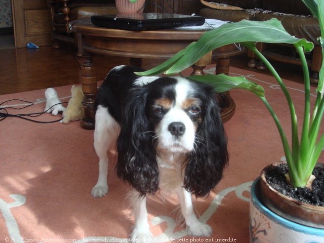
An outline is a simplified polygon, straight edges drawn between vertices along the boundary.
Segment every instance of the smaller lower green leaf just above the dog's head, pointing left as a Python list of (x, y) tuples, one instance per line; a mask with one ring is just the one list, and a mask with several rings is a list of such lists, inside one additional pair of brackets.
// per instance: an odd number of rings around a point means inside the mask
[(264, 97), (264, 89), (262, 86), (257, 85), (256, 83), (242, 76), (232, 77), (225, 74), (207, 74), (189, 76), (187, 78), (208, 84), (212, 86), (218, 93), (226, 92), (231, 89), (245, 89), (251, 91), (259, 97)]

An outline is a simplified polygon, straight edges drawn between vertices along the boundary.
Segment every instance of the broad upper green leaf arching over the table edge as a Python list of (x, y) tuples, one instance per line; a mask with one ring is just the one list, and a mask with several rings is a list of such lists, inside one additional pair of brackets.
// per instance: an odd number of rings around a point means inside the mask
[(233, 43), (300, 43), (306, 52), (313, 48), (311, 42), (290, 35), (277, 19), (268, 21), (241, 20), (236, 23), (223, 24), (217, 29), (207, 31), (186, 53), (169, 69), (166, 74), (175, 74), (190, 67), (212, 50)]

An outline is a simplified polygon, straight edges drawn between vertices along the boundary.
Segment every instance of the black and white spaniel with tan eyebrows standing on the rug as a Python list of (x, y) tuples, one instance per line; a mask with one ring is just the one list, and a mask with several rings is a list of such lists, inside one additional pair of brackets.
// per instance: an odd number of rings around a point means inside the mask
[(212, 228), (194, 214), (191, 194), (208, 195), (228, 161), (216, 95), (210, 86), (184, 77), (140, 77), (138, 71), (143, 70), (113, 68), (97, 93), (99, 178), (92, 195), (108, 191), (107, 149), (116, 144), (116, 174), (132, 188), (132, 240), (150, 242), (146, 197), (156, 192), (178, 195), (190, 235), (210, 236)]

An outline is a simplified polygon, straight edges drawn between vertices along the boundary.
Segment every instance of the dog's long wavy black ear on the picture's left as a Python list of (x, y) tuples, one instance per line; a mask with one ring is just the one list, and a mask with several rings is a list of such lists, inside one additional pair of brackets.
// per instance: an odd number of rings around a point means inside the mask
[(134, 88), (126, 101), (117, 140), (116, 173), (140, 195), (158, 190), (159, 173), (156, 161), (154, 130), (146, 116), (147, 91)]

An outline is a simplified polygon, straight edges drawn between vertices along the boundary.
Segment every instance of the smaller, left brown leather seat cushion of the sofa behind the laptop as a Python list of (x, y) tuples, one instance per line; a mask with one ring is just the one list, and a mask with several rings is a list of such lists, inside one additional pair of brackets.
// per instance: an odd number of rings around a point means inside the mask
[(252, 15), (246, 13), (244, 10), (219, 10), (205, 8), (201, 9), (199, 15), (204, 16), (208, 19), (219, 19), (228, 22), (238, 22), (242, 19), (252, 20)]

